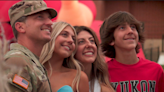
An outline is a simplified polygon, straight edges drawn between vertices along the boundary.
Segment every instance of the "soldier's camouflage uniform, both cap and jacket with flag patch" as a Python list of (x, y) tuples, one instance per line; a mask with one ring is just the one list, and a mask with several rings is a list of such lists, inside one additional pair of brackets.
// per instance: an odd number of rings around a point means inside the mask
[[(14, 23), (21, 17), (45, 10), (49, 12), (51, 18), (56, 17), (57, 12), (52, 8), (48, 8), (42, 0), (24, 0), (14, 4), (9, 9), (12, 28), (15, 26)], [(14, 33), (14, 35), (17, 34)], [(21, 72), (15, 73), (10, 70), (7, 72), (11, 92), (52, 92), (47, 73), (37, 56), (18, 43), (11, 44), (10, 49), (5, 55), (5, 62), (21, 69)]]

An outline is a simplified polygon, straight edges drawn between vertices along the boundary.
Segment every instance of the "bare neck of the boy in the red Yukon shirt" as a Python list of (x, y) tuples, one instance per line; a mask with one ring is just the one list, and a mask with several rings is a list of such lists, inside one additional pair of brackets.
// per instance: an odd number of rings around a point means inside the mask
[(116, 50), (116, 53), (115, 59), (120, 63), (131, 65), (136, 64), (139, 61), (135, 50), (128, 52)]

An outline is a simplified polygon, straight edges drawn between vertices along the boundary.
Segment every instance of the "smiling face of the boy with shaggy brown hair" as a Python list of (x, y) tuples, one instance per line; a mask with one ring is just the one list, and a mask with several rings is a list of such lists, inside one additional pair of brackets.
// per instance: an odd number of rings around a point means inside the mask
[(110, 43), (115, 49), (135, 50), (138, 43), (138, 32), (133, 24), (124, 23), (114, 31), (114, 41)]

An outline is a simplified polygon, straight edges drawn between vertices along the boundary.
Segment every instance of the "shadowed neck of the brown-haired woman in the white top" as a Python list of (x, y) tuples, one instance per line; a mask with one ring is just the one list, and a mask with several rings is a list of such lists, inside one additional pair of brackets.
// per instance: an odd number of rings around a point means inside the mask
[(89, 81), (91, 80), (91, 72), (92, 72), (92, 63), (83, 64), (84, 72), (87, 74)]

